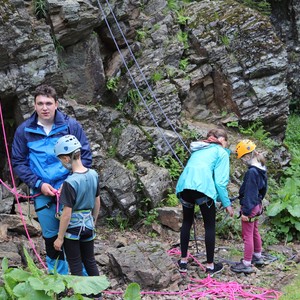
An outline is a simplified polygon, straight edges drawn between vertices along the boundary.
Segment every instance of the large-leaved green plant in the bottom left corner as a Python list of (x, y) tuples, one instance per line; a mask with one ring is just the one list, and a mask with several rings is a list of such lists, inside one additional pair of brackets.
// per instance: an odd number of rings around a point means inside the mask
[[(102, 276), (73, 276), (57, 273), (46, 274), (40, 270), (23, 248), (27, 261), (27, 268), (10, 268), (8, 259), (2, 260), (2, 280), (0, 298), (14, 299), (42, 299), (59, 300), (72, 298), (73, 300), (89, 299), (86, 295), (96, 295), (109, 287), (107, 278)], [(85, 296), (84, 296), (85, 295)]]

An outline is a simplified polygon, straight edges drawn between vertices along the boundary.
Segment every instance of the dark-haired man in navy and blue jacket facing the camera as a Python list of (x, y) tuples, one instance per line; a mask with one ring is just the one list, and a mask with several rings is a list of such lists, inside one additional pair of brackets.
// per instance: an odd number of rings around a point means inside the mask
[[(82, 126), (58, 109), (56, 91), (41, 85), (34, 94), (35, 112), (16, 130), (12, 144), (14, 172), (31, 189), (34, 207), (42, 228), (46, 246), (46, 262), (49, 272), (54, 267), (60, 274), (68, 274), (68, 265), (62, 251), (56, 251), (59, 220), (56, 215), (56, 195), (69, 171), (63, 167), (53, 151), (57, 140), (72, 134), (82, 145), (82, 162), (89, 168), (92, 154)], [(58, 260), (57, 260), (58, 259)]]

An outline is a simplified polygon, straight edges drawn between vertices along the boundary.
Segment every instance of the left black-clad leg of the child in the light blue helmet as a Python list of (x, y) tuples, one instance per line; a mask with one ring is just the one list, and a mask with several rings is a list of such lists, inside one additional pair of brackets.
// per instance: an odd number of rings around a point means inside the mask
[(65, 238), (64, 248), (71, 275), (83, 276), (80, 242), (78, 240), (70, 240)]

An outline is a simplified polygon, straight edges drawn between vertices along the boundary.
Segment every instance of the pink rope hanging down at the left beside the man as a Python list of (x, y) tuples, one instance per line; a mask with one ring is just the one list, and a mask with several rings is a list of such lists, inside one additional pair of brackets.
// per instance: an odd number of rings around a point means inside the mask
[[(10, 176), (11, 176), (11, 180), (12, 180), (12, 185), (13, 185), (13, 189), (11, 189), (11, 191), (13, 192), (13, 194), (15, 195), (16, 197), (16, 201), (17, 201), (17, 206), (18, 206), (18, 211), (20, 213), (20, 216), (21, 216), (21, 221), (22, 221), (22, 224), (24, 226), (24, 229), (25, 229), (25, 232), (26, 232), (26, 236), (28, 238), (28, 241), (32, 247), (32, 250), (33, 252), (35, 253), (35, 255), (37, 256), (38, 260), (40, 261), (40, 263), (42, 264), (42, 266), (47, 270), (47, 267), (45, 265), (45, 263), (43, 262), (42, 258), (40, 257), (40, 255), (38, 254), (36, 248), (35, 248), (35, 245), (33, 243), (33, 240), (31, 239), (30, 235), (29, 235), (29, 232), (28, 232), (28, 229), (27, 229), (27, 225), (26, 225), (26, 221), (25, 221), (25, 218), (23, 216), (23, 213), (22, 213), (22, 208), (21, 208), (21, 205), (20, 205), (20, 201), (19, 201), (19, 196), (20, 194), (17, 193), (17, 189), (16, 189), (16, 184), (15, 184), (15, 179), (14, 179), (14, 176), (13, 176), (13, 170), (12, 170), (12, 166), (11, 166), (11, 160), (10, 160), (10, 156), (9, 156), (9, 151), (8, 151), (8, 144), (7, 144), (7, 139), (6, 139), (6, 132), (5, 132), (5, 127), (4, 127), (4, 122), (3, 122), (3, 114), (2, 114), (2, 107), (1, 107), (1, 102), (0, 102), (0, 121), (1, 121), (1, 125), (2, 125), (2, 131), (3, 131), (3, 139), (4, 139), (4, 144), (5, 144), (5, 150), (6, 150), (6, 155), (7, 155), (7, 161), (8, 161), (8, 166), (9, 166), (9, 171), (10, 171)], [(3, 181), (1, 180), (1, 183), (3, 183)], [(6, 186), (4, 184), (4, 186)], [(23, 198), (24, 196), (21, 195)]]

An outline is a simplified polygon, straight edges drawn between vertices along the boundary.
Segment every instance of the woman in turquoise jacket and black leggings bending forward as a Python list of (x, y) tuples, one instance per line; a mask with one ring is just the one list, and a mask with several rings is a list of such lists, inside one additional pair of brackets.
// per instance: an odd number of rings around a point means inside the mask
[(182, 204), (183, 222), (180, 232), (181, 259), (179, 271), (187, 272), (188, 244), (194, 222), (195, 204), (200, 211), (205, 228), (206, 273), (215, 274), (223, 269), (214, 263), (216, 201), (221, 201), (230, 216), (233, 216), (227, 185), (229, 181), (229, 153), (227, 133), (223, 129), (212, 129), (206, 140), (191, 143), (191, 157), (179, 177), (176, 194)]

